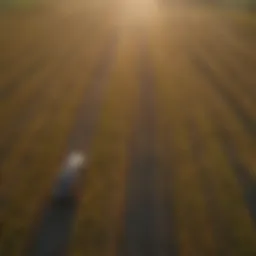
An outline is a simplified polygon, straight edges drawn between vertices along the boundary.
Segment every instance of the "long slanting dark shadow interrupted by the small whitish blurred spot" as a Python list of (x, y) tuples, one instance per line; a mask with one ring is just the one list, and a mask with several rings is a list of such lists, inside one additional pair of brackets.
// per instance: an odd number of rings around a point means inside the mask
[[(85, 157), (93, 138), (94, 129), (97, 125), (98, 115), (101, 109), (102, 96), (105, 80), (109, 67), (114, 57), (116, 37), (110, 40), (106, 49), (102, 53), (102, 58), (93, 74), (90, 88), (86, 90), (84, 102), (80, 107), (77, 122), (69, 141), (68, 154), (72, 152), (82, 152)], [(67, 255), (71, 230), (76, 215), (79, 198), (76, 195), (76, 184), (80, 184), (85, 168), (74, 171), (67, 175), (64, 170), (57, 179), (56, 186), (50, 202), (43, 209), (39, 225), (32, 232), (28, 246), (28, 256), (64, 256)], [(60, 195), (56, 196), (56, 190)], [(59, 192), (58, 192), (59, 193)]]

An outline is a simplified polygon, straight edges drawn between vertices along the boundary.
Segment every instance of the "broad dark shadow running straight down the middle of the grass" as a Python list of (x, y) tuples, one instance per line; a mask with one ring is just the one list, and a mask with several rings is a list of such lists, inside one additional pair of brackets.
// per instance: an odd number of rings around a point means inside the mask
[[(171, 208), (165, 195), (160, 195), (163, 197), (162, 205), (158, 202), (155, 81), (148, 53), (145, 47), (142, 48), (139, 61), (140, 102), (130, 148), (124, 233), (121, 237), (119, 255), (167, 256), (173, 255), (169, 233), (171, 226), (168, 226)], [(159, 220), (161, 217), (164, 219)], [(166, 225), (164, 230), (162, 224)]]

